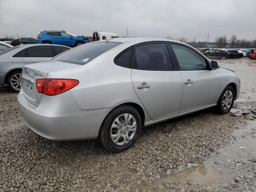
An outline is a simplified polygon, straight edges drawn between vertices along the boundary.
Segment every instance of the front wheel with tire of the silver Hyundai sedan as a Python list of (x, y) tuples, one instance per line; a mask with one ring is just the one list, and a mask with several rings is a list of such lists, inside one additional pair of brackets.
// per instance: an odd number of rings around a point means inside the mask
[(217, 110), (220, 114), (226, 114), (233, 106), (235, 91), (232, 86), (226, 86), (217, 102)]

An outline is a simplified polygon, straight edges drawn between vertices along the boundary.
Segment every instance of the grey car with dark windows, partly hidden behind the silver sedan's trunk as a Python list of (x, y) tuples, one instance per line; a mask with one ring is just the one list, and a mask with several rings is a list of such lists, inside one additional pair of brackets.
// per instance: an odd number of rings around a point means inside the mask
[(1, 51), (0, 85), (8, 84), (19, 92), (23, 65), (48, 60), (69, 49), (62, 45), (25, 44)]

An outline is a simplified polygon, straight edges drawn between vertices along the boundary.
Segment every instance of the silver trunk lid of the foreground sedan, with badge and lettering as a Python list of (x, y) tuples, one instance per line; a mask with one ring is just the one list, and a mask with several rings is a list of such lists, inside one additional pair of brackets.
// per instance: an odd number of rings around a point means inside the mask
[(24, 92), (25, 98), (32, 104), (38, 106), (41, 102), (42, 93), (38, 93), (36, 90), (36, 80), (46, 78), (49, 72), (77, 66), (80, 65), (57, 61), (46, 61), (23, 66), (21, 89)]

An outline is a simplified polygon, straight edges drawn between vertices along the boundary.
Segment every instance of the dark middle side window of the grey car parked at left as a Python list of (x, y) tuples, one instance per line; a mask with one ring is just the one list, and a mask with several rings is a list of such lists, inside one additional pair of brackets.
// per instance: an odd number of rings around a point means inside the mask
[(33, 58), (52, 58), (53, 53), (51, 46), (34, 46), (26, 48), (27, 52), (24, 57)]

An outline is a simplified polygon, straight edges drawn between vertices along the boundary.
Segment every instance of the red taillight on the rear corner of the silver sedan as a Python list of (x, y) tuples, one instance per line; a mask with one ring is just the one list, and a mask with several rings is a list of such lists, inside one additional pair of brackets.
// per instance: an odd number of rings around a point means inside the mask
[(72, 89), (79, 83), (75, 79), (37, 79), (36, 90), (45, 95), (58, 95)]

